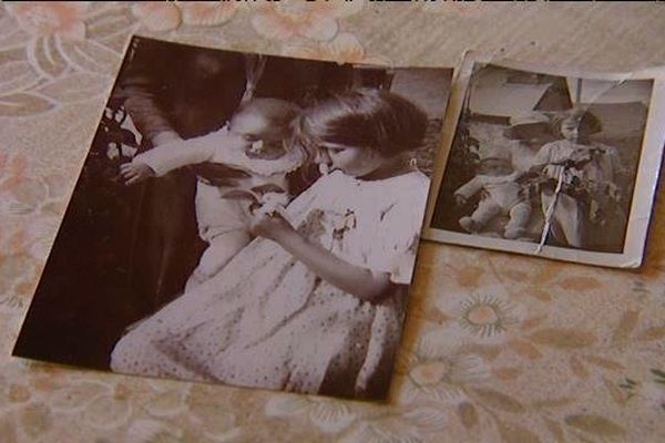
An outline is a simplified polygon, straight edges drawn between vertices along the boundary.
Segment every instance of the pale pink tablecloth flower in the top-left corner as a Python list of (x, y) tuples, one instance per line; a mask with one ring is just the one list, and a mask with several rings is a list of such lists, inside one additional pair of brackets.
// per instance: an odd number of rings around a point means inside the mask
[(31, 35), (62, 35), (68, 39), (85, 38), (85, 13), (89, 2), (32, 1), (8, 3), (8, 12), (21, 29)]

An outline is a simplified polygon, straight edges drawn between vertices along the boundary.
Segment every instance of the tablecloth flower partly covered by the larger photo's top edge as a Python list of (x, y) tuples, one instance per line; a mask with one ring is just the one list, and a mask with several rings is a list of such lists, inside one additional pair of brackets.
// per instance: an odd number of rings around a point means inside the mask
[(316, 47), (287, 45), (283, 49), (286, 56), (299, 59), (331, 60), (337, 63), (370, 63), (391, 65), (392, 62), (381, 56), (367, 56), (365, 48), (356, 35), (342, 32), (329, 42), (318, 43)]

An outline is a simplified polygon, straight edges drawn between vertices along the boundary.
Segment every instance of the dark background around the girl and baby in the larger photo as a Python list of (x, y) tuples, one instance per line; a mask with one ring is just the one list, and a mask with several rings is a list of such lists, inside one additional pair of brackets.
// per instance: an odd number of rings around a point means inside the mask
[[(256, 97), (308, 106), (354, 87), (383, 87), (426, 111), (419, 166), (428, 175), (439, 145), (452, 70), (393, 69), (267, 56)], [(206, 245), (194, 213), (196, 178), (182, 168), (126, 186), (126, 148), (149, 137), (121, 126), (124, 102), (145, 94), (183, 138), (215, 131), (245, 89), (242, 53), (134, 38), (78, 179), (13, 354), (108, 369), (124, 329), (177, 297)], [(143, 134), (145, 135), (145, 134)], [(141, 140), (141, 141), (140, 141)], [(120, 154), (108, 155), (113, 147)], [(316, 176), (294, 177), (300, 189)]]

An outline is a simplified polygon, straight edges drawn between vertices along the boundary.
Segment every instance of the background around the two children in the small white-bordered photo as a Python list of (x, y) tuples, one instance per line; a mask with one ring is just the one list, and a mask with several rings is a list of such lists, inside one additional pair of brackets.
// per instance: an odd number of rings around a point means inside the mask
[[(483, 97), (485, 99), (485, 103), (477, 104), (477, 106), (482, 107), (484, 105), (488, 107), (495, 104), (497, 107), (502, 107), (503, 104), (505, 107), (503, 115), (497, 115), (501, 114), (501, 111), (482, 113), (474, 112), (471, 109), (472, 106), (470, 104), (472, 94), (481, 93), (478, 91), (475, 82), (478, 82), (482, 75), (485, 75), (485, 78), (491, 75), (501, 78), (502, 81), (497, 82), (497, 89), (503, 87), (505, 89), (505, 92), (503, 96), (497, 94), (497, 96)], [(630, 83), (631, 81), (627, 82)], [(651, 81), (633, 82), (644, 83), (640, 86), (651, 91)], [(543, 91), (542, 93), (538, 93), (530, 97), (531, 100), (519, 93), (515, 94), (516, 96), (514, 99), (511, 99), (510, 87), (513, 85), (518, 90), (523, 85), (534, 87), (542, 85)], [(651, 96), (651, 93), (648, 96)], [(505, 103), (491, 103), (491, 101), (503, 101)], [(479, 101), (475, 103), (479, 103)], [(593, 134), (591, 140), (593, 142), (615, 147), (618, 151), (622, 164), (626, 165), (630, 169), (628, 174), (623, 178), (623, 181), (616, 183), (620, 189), (622, 189), (624, 193), (624, 198), (621, 206), (627, 215), (633, 200), (635, 177), (637, 173), (637, 164), (640, 161), (648, 107), (638, 101), (627, 101), (625, 103), (583, 104), (591, 113), (598, 117), (603, 125), (602, 131), (597, 134)], [(478, 145), (479, 142), (483, 143), (483, 141), (479, 141), (479, 134), (484, 134), (484, 138), (491, 140), (491, 143), (494, 143), (497, 146), (507, 146), (510, 143), (515, 143), (503, 135), (503, 131), (509, 127), (510, 115), (508, 115), (508, 112), (543, 112), (552, 117), (552, 130), (554, 132), (556, 125), (556, 114), (570, 110), (572, 106), (573, 102), (571, 100), (571, 93), (569, 91), (566, 78), (564, 76), (519, 71), (491, 64), (477, 64), (474, 66), (469, 89), (467, 90), (460, 119), (456, 127), (456, 134), (449, 152), (430, 226), (437, 229), (468, 234), (459, 225), (458, 220), (460, 217), (470, 215), (473, 212), (473, 208), (480, 199), (480, 195), (475, 196), (470, 206), (459, 207), (456, 205), (453, 193), (461, 185), (472, 179), (477, 174), (480, 158), (477, 154), (477, 148), (474, 145)], [(557, 137), (552, 134), (550, 141), (555, 140), (557, 140)], [(538, 150), (535, 152), (538, 152)], [(538, 219), (535, 219), (536, 217)], [(531, 228), (542, 228), (542, 209), (539, 200), (539, 204), (533, 205)], [(494, 223), (494, 226), (497, 226), (504, 224), (507, 220), (508, 217), (499, 216), (491, 223)], [(538, 230), (538, 233), (540, 234), (540, 230)], [(604, 233), (595, 234), (598, 235), (595, 235), (592, 239), (594, 246), (589, 247), (587, 250), (605, 253), (621, 253), (623, 250), (625, 226), (621, 238), (607, 238), (603, 236)], [(556, 239), (552, 235), (549, 236), (546, 244), (552, 246), (564, 246), (557, 244)]]

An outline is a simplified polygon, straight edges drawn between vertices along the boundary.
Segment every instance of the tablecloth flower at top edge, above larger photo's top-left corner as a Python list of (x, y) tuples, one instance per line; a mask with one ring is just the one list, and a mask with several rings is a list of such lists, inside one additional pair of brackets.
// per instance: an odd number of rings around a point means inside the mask
[(132, 12), (151, 31), (172, 31), (181, 23), (213, 27), (231, 20), (237, 10), (235, 1), (139, 2)]

